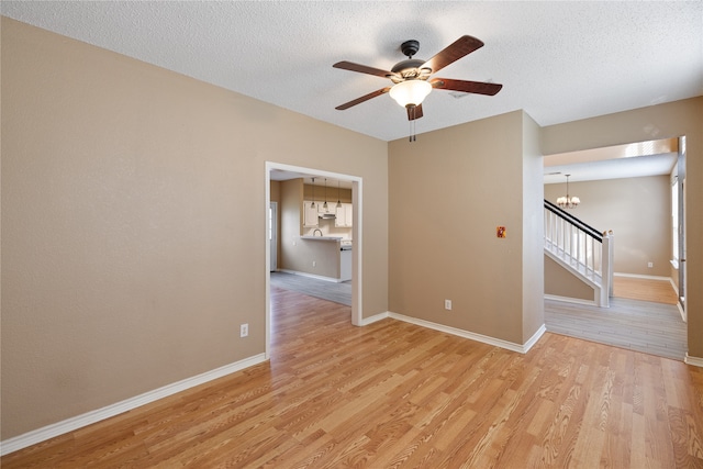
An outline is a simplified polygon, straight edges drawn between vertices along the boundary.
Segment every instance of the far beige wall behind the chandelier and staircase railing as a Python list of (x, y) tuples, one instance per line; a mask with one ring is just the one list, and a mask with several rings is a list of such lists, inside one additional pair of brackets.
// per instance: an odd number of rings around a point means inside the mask
[[(565, 192), (566, 183), (545, 186), (545, 198), (551, 202)], [(669, 176), (569, 182), (569, 193), (581, 199), (569, 213), (600, 232), (613, 231), (616, 273), (670, 276)]]

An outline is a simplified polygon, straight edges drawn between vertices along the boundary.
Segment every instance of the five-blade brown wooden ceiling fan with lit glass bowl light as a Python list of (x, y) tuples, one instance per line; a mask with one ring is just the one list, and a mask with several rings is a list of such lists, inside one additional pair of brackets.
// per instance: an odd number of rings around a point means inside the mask
[[(482, 46), (482, 41), (465, 35), (425, 62), (413, 58), (413, 55), (420, 49), (420, 42), (415, 40), (405, 41), (400, 48), (403, 55), (408, 56), (408, 59), (395, 64), (390, 71), (346, 60), (338, 62), (334, 64), (333, 67), (389, 78), (393, 85), (337, 105), (335, 109), (343, 111), (353, 105), (360, 104), (364, 101), (368, 101), (371, 98), (390, 93), (391, 98), (408, 110), (408, 120), (414, 121), (423, 116), (422, 101), (429, 94), (433, 88), (493, 96), (503, 88), (502, 85), (455, 80), (450, 78), (429, 78), (432, 74), (439, 71), (447, 65), (453, 64)], [(411, 136), (411, 141), (412, 139), (414, 138)]]

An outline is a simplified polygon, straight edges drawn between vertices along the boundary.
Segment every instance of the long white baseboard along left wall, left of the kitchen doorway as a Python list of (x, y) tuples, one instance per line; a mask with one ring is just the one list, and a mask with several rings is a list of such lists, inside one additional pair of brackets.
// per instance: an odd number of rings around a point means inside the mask
[(15, 436), (4, 442), (0, 442), (0, 456), (16, 451), (27, 446), (35, 445), (41, 442), (45, 442), (49, 438), (63, 435), (68, 432), (81, 428), (83, 426), (100, 422), (102, 420), (115, 416), (126, 411), (140, 407), (149, 402), (157, 401), (159, 399), (167, 398), (178, 392), (185, 391), (190, 388), (194, 388), (200, 384), (204, 384), (208, 381), (222, 378), (236, 371), (241, 371), (245, 368), (258, 365), (266, 361), (265, 354), (255, 355), (249, 358), (236, 361), (234, 364), (225, 365), (214, 370), (205, 371), (204, 373), (186, 378), (181, 381), (167, 384), (163, 388), (155, 389), (153, 391), (145, 392), (144, 394), (136, 395), (134, 398), (126, 399), (124, 401), (108, 405), (107, 407), (98, 409), (96, 411), (87, 412), (81, 415), (77, 415), (71, 418), (67, 418), (63, 422), (57, 422), (52, 425), (47, 425), (42, 428), (37, 428), (32, 432), (27, 432), (23, 435)]

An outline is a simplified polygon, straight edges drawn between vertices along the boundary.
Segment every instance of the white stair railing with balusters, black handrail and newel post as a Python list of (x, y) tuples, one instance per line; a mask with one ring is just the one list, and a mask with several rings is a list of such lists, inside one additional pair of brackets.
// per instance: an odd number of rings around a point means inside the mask
[(613, 233), (600, 233), (545, 200), (545, 254), (593, 288), (593, 301), (609, 308), (613, 295)]

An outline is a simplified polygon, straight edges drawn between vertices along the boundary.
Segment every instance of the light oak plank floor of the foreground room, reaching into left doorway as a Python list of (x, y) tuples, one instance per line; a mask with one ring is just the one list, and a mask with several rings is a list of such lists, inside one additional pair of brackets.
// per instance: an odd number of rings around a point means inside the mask
[(701, 468), (703, 369), (546, 333), (518, 354), (272, 288), (270, 362), (16, 467)]

